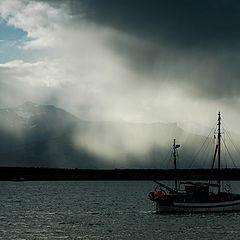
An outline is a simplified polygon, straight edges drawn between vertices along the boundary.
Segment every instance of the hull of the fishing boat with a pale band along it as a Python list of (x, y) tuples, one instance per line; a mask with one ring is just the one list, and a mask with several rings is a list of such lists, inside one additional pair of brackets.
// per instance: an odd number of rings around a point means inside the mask
[(231, 212), (240, 211), (240, 200), (223, 201), (215, 203), (177, 203), (171, 206), (161, 205), (156, 202), (157, 213), (201, 213), (201, 212)]

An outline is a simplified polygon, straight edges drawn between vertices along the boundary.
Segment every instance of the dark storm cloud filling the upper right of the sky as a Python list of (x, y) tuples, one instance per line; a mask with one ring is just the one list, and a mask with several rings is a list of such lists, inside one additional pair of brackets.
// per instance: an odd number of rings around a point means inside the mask
[(81, 9), (88, 21), (135, 38), (113, 39), (110, 46), (132, 69), (158, 75), (154, 81), (185, 86), (195, 97), (238, 95), (239, 1), (82, 0), (70, 5), (73, 14)]

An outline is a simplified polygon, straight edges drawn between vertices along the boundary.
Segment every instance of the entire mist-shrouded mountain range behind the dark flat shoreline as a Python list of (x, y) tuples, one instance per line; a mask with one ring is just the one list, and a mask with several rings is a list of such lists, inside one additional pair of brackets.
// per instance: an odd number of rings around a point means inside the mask
[[(173, 138), (181, 144), (179, 166), (189, 167), (206, 137), (176, 123), (83, 121), (63, 109), (31, 102), (0, 109), (1, 166), (171, 168)], [(205, 158), (211, 159), (211, 153), (194, 166), (203, 166)]]

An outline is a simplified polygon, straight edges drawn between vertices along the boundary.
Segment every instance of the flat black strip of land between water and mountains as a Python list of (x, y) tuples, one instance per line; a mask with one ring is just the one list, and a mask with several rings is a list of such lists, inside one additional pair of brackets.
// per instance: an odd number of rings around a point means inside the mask
[[(240, 180), (240, 169), (179, 169), (179, 180)], [(0, 181), (91, 181), (91, 180), (174, 180), (174, 170), (166, 169), (57, 169), (0, 167)]]

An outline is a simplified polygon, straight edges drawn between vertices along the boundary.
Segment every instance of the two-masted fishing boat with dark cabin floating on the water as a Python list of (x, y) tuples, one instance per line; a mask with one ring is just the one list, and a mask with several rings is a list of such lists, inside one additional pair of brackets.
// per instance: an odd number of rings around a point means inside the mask
[[(212, 168), (217, 160), (217, 172), (221, 168), (221, 114), (218, 113), (217, 133)], [(215, 136), (215, 135), (214, 135)], [(222, 186), (220, 174), (216, 183), (211, 182), (179, 182), (176, 178), (176, 151), (180, 147), (173, 141), (173, 163), (175, 172), (175, 187), (155, 181), (157, 188), (148, 197), (156, 203), (157, 213), (166, 212), (229, 212), (240, 211), (240, 194), (231, 192), (230, 185)]]

